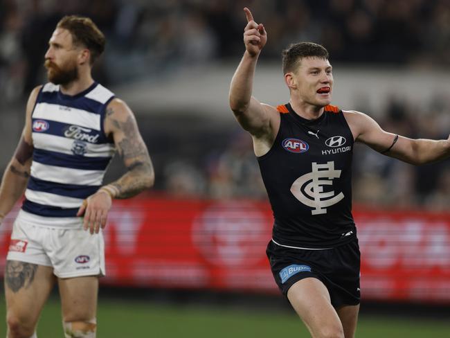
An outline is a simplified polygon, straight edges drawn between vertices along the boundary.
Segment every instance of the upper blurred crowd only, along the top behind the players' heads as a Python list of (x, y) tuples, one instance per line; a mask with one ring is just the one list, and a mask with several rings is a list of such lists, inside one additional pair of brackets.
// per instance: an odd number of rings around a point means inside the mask
[(0, 0), (0, 89), (12, 98), (35, 86), (67, 13), (88, 15), (107, 35), (103, 62), (115, 71), (98, 75), (109, 84), (242, 54), (244, 6), (267, 27), (267, 59), (314, 41), (332, 62), (450, 65), (448, 0)]

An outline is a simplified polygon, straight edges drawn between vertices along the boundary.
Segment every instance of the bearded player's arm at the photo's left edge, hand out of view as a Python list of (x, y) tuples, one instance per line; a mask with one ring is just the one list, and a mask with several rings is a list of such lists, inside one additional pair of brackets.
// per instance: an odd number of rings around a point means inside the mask
[(26, 118), (19, 144), (3, 174), (0, 186), (0, 224), (19, 198), (24, 194), (30, 177), (31, 159), (33, 157), (33, 139), (31, 138), (31, 113), (35, 106), (39, 87), (31, 91), (26, 104)]

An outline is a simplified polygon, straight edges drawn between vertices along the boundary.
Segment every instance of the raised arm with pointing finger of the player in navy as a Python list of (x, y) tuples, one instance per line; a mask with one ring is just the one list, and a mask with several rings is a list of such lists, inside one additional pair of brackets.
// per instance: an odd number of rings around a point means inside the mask
[(271, 118), (276, 109), (263, 105), (251, 96), (253, 77), (258, 57), (267, 42), (267, 33), (262, 24), (256, 24), (249, 8), (244, 8), (247, 25), (244, 28), (245, 53), (237, 66), (230, 87), (230, 107), (237, 121), (253, 136), (270, 133)]

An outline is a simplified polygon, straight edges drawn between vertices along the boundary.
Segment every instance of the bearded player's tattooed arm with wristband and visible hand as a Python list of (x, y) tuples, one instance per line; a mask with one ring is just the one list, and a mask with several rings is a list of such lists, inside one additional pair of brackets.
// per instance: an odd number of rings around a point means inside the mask
[(111, 199), (128, 198), (150, 188), (154, 184), (154, 170), (147, 147), (138, 130), (131, 109), (115, 98), (109, 103), (105, 117), (105, 133), (112, 135), (118, 154), (127, 171), (118, 180), (102, 186), (87, 198), (78, 215), (84, 214), (84, 229), (91, 233), (105, 228)]

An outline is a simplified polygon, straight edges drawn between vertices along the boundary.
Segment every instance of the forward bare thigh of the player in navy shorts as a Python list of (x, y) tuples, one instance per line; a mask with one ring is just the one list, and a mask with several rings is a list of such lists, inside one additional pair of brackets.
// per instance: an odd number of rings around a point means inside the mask
[(317, 278), (303, 278), (296, 282), (289, 288), (287, 298), (312, 337), (344, 337), (330, 294)]

